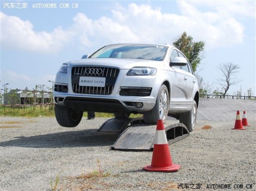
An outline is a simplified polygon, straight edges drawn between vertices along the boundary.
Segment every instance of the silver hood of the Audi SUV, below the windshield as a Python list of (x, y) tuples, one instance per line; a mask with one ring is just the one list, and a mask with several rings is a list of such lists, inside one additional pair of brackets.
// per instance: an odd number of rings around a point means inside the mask
[(121, 70), (129, 70), (134, 66), (159, 67), (163, 65), (163, 61), (139, 60), (139, 59), (120, 59), (120, 58), (89, 58), (73, 60), (67, 63), (69, 67), (73, 66), (108, 66), (118, 67)]

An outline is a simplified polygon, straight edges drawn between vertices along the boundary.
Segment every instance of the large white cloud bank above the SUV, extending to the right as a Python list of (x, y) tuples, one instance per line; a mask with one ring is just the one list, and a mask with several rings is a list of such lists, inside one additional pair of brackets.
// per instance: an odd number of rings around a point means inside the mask
[[(205, 41), (211, 48), (243, 43), (244, 26), (234, 16), (238, 5), (230, 2), (228, 12), (224, 12), (220, 3), (215, 6), (209, 3), (210, 8), (202, 11), (198, 8), (199, 2), (178, 1), (182, 15), (132, 3), (127, 8), (119, 6), (113, 9), (111, 18), (102, 16), (91, 20), (79, 13), (74, 18), (73, 28), (82, 31), (78, 37), (86, 46), (116, 42), (171, 43), (184, 31), (196, 41)], [(239, 6), (243, 7), (243, 4)]]

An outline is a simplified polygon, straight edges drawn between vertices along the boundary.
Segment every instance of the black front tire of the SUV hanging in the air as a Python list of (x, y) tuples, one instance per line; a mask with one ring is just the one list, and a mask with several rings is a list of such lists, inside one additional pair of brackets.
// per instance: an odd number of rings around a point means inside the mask
[(55, 117), (58, 124), (63, 127), (76, 127), (83, 117), (83, 112), (71, 110), (55, 104)]

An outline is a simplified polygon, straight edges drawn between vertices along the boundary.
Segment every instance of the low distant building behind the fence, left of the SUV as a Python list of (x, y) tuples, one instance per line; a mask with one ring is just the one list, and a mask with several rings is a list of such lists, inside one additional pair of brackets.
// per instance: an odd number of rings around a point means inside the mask
[(4, 105), (39, 105), (50, 103), (52, 92), (36, 90), (10, 90), (4, 95)]

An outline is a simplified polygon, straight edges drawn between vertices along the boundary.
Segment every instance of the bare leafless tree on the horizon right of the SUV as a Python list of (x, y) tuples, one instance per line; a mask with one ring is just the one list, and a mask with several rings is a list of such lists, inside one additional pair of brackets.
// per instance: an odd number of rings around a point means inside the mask
[(236, 64), (233, 64), (232, 62), (226, 62), (220, 64), (218, 68), (220, 69), (223, 76), (223, 78), (219, 79), (219, 84), (224, 89), (223, 96), (225, 96), (231, 85), (240, 82), (235, 77), (233, 77), (234, 74), (239, 72), (238, 70), (240, 67)]

